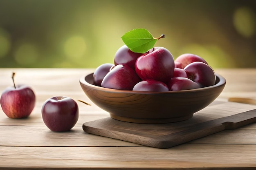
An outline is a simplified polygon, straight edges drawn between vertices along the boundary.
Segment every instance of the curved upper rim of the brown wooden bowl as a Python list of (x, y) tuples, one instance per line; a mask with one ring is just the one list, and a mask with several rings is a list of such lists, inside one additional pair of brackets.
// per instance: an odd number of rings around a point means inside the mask
[(106, 91), (109, 93), (132, 93), (132, 94), (169, 94), (169, 93), (188, 93), (188, 92), (198, 92), (198, 91), (205, 91), (210, 88), (217, 88), (219, 86), (225, 85), (226, 84), (226, 79), (219, 75), (218, 73), (215, 73), (216, 75), (216, 81), (219, 79), (219, 82), (212, 86), (207, 86), (207, 87), (201, 87), (201, 88), (196, 88), (196, 89), (190, 89), (190, 90), (181, 90), (181, 91), (165, 91), (165, 92), (157, 92), (157, 91), (130, 91), (130, 90), (119, 90), (119, 89), (113, 89), (113, 88), (105, 88), (101, 86), (96, 86), (94, 84), (90, 84), (85, 80), (86, 77), (88, 76), (93, 76), (93, 73), (90, 73), (88, 75), (83, 75), (79, 78), (80, 84), (83, 84), (85, 86), (88, 86), (90, 88), (93, 88), (95, 90), (101, 90), (101, 91)]

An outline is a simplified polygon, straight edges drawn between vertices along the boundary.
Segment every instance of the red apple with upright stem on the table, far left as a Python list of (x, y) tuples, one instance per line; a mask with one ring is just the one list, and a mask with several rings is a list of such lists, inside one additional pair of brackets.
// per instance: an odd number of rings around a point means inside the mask
[[(15, 73), (13, 73), (12, 79)], [(28, 117), (36, 104), (36, 96), (30, 86), (15, 85), (7, 87), (1, 95), (0, 103), (3, 112), (9, 118)]]

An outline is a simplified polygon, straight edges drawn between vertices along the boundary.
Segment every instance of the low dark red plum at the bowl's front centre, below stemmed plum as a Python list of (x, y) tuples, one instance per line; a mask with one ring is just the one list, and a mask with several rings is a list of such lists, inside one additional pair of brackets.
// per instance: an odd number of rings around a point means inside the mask
[(168, 86), (156, 80), (144, 80), (137, 83), (133, 89), (133, 91), (170, 91)]

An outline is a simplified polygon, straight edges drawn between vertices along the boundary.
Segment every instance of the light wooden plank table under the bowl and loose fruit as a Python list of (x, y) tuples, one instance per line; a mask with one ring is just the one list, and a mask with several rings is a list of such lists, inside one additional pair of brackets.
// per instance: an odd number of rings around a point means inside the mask
[[(84, 122), (109, 117), (83, 93), (79, 77), (94, 69), (0, 68), (0, 92), (29, 84), (36, 106), (28, 119), (10, 119), (0, 109), (0, 169), (162, 169), (213, 170), (256, 168), (256, 123), (224, 130), (186, 144), (158, 149), (85, 133)], [(256, 69), (216, 69), (227, 79), (217, 100), (256, 99)], [(80, 117), (68, 132), (52, 132), (43, 123), (41, 107), (53, 96), (69, 96), (79, 104)], [(255, 107), (250, 105), (250, 107)]]

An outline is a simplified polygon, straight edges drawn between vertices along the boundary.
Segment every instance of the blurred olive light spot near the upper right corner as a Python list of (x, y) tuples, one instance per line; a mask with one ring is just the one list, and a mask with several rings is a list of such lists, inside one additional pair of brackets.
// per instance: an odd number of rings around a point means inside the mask
[(248, 7), (240, 7), (234, 13), (234, 27), (244, 37), (251, 37), (256, 31), (255, 14)]

